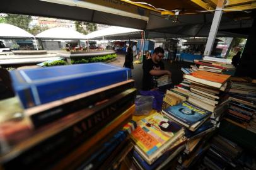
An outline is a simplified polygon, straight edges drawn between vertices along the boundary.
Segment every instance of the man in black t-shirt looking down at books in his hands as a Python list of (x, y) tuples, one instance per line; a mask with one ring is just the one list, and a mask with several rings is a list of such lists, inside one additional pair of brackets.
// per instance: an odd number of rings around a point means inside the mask
[(143, 63), (143, 90), (148, 91), (154, 88), (153, 76), (163, 76), (167, 74), (171, 76), (171, 72), (165, 70), (165, 65), (161, 61), (165, 51), (161, 47), (154, 49), (151, 59), (145, 60)]

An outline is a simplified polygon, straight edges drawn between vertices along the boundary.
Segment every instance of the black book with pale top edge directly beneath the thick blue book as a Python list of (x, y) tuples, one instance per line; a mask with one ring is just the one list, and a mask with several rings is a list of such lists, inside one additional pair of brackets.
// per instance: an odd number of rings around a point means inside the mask
[(103, 101), (104, 99), (115, 96), (116, 94), (133, 87), (134, 80), (130, 79), (103, 88), (52, 101), (44, 105), (28, 108), (24, 111), (24, 114), (29, 116), (33, 122), (33, 126), (38, 128), (47, 123), (54, 122), (54, 120), (57, 120), (62, 116), (95, 105), (98, 101)]

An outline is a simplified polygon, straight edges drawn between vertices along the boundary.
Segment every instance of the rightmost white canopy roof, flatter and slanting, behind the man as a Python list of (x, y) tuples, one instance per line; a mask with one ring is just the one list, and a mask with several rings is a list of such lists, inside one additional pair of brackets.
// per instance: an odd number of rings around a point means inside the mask
[(100, 37), (112, 37), (116, 35), (129, 35), (134, 33), (139, 33), (141, 30), (133, 29), (133, 28), (125, 28), (120, 26), (110, 26), (108, 28), (105, 28), (103, 30), (94, 31), (92, 33), (89, 33), (86, 35), (86, 38), (88, 40), (90, 39), (96, 39)]

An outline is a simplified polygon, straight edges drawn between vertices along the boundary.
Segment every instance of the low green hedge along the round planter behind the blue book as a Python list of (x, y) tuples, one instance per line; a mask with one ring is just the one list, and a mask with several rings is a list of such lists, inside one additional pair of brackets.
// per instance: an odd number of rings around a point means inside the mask
[(83, 64), (88, 62), (105, 62), (107, 60), (112, 60), (117, 57), (117, 54), (108, 54), (98, 57), (91, 57), (89, 59), (79, 59), (79, 60), (71, 60), (71, 64)]

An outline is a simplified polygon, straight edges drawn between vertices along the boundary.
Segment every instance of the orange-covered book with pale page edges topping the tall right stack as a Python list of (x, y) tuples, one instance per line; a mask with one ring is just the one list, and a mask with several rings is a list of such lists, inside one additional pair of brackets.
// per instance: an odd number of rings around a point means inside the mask
[(228, 81), (230, 75), (218, 74), (214, 72), (207, 71), (195, 71), (191, 74), (185, 74), (184, 78), (195, 82), (206, 84), (207, 86), (212, 86), (214, 88), (220, 89), (223, 84)]

